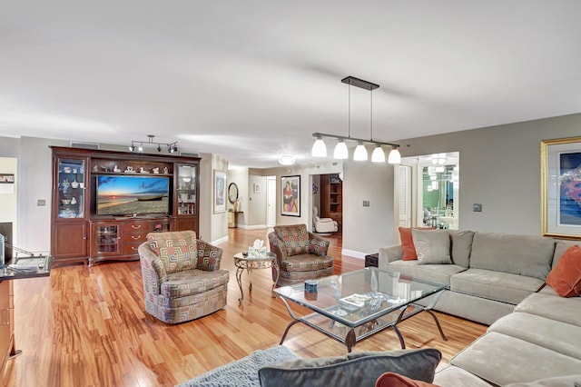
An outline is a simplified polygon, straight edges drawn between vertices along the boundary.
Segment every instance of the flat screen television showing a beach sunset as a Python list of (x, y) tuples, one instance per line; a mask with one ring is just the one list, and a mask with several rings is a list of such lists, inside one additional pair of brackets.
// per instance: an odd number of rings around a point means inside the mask
[(98, 215), (170, 213), (170, 178), (154, 175), (98, 175)]

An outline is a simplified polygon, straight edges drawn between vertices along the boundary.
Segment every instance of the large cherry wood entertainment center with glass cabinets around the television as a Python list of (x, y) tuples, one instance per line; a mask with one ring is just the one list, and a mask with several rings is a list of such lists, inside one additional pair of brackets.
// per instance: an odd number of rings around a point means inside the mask
[[(51, 148), (53, 264), (133, 261), (147, 233), (199, 233), (199, 157)], [(142, 191), (105, 195), (115, 181)]]

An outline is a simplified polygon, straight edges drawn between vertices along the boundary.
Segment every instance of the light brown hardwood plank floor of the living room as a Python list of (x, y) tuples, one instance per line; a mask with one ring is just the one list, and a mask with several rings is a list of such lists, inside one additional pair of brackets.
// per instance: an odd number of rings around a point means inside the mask
[[(50, 278), (15, 281), (15, 340), (23, 354), (8, 362), (0, 385), (172, 386), (277, 345), (291, 318), (281, 300), (271, 297), (270, 272), (254, 271), (252, 293), (239, 306), (232, 258), (257, 238), (268, 243), (269, 231), (229, 229), (229, 242), (220, 245), (222, 268), (231, 273), (228, 305), (189, 323), (169, 325), (145, 313), (138, 261), (56, 267)], [(364, 266), (363, 260), (341, 257), (340, 237), (329, 239), (335, 273)], [(242, 279), (247, 291), (245, 273)], [(438, 318), (448, 342), (428, 313), (420, 313), (399, 325), (407, 347), (437, 348), (448, 362), (486, 330), (443, 313)], [(303, 324), (291, 328), (284, 345), (307, 358), (346, 353), (343, 344)], [(398, 338), (387, 330), (353, 351), (396, 349)]]

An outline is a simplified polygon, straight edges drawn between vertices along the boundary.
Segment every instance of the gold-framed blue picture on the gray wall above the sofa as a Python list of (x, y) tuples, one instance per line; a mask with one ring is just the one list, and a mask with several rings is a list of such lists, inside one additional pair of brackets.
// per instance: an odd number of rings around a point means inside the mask
[(541, 141), (544, 236), (581, 239), (581, 137)]

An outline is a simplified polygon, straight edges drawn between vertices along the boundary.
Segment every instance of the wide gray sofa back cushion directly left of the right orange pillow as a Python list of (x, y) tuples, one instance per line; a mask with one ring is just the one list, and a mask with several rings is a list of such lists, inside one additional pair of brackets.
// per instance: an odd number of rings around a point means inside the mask
[(470, 267), (545, 281), (554, 251), (555, 241), (551, 238), (478, 232), (472, 243)]

